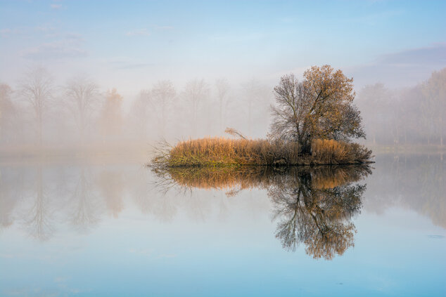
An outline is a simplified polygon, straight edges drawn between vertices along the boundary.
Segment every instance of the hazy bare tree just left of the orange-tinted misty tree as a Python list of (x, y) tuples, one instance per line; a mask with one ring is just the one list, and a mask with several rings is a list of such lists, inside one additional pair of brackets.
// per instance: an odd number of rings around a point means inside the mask
[(76, 119), (82, 141), (89, 117), (98, 102), (98, 85), (86, 77), (74, 77), (65, 85), (65, 100)]

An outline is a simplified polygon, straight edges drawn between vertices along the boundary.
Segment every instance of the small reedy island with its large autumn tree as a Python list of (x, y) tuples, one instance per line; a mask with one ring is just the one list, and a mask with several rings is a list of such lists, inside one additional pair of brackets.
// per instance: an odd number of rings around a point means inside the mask
[(330, 65), (311, 67), (299, 81), (281, 77), (274, 88), (267, 139), (252, 140), (227, 128), (235, 139), (201, 138), (158, 147), (154, 169), (188, 166), (297, 166), (371, 163), (371, 150), (352, 138), (365, 138), (353, 105), (353, 79)]

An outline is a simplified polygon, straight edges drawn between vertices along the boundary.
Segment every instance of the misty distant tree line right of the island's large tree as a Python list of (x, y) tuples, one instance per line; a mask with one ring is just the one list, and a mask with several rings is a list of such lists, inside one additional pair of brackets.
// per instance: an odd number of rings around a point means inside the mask
[(369, 143), (444, 145), (446, 136), (446, 68), (427, 81), (402, 89), (378, 83), (357, 95)]

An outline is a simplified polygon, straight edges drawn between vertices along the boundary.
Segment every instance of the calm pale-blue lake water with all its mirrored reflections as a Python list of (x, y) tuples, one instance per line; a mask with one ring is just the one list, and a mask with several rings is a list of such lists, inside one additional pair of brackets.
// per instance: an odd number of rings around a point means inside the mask
[(0, 164), (0, 296), (446, 296), (440, 155), (372, 169)]

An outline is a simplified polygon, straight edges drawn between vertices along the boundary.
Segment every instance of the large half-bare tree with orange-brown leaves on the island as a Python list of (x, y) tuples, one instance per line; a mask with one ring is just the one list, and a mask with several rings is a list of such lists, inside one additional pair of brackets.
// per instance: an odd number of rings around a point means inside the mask
[(270, 136), (296, 141), (302, 154), (311, 154), (312, 140), (365, 138), (355, 98), (353, 79), (329, 65), (311, 67), (298, 81), (294, 74), (281, 77), (274, 88), (276, 105)]

